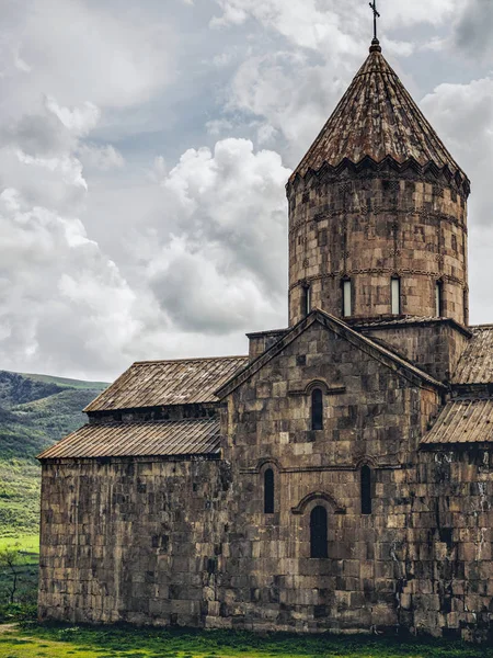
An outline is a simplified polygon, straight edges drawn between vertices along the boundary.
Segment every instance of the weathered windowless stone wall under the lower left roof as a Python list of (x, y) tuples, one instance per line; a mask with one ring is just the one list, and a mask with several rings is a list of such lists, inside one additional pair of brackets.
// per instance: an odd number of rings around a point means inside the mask
[(42, 487), (42, 620), (202, 626), (219, 613), (223, 463), (45, 463)]

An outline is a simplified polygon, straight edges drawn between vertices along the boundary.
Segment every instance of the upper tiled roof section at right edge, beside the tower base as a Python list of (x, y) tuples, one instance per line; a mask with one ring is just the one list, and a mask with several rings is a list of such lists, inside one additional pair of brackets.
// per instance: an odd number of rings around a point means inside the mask
[(493, 383), (493, 326), (471, 327), (472, 339), (462, 354), (452, 384)]

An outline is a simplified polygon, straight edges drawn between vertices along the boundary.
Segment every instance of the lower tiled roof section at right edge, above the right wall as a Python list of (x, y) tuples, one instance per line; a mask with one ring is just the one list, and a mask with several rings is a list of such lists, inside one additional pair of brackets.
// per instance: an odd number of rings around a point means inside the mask
[(493, 399), (447, 402), (422, 443), (493, 442)]

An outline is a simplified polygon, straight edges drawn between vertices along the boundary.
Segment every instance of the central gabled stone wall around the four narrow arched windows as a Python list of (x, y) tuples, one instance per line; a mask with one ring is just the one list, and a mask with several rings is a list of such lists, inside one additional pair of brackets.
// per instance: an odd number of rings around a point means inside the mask
[[(310, 385), (325, 383), (324, 430), (310, 429)], [(225, 457), (234, 496), (223, 624), (314, 632), (399, 623), (393, 546), (411, 498), (400, 490), (438, 407), (420, 388), (349, 342), (313, 325), (228, 398)], [(362, 514), (360, 466), (372, 469), (374, 509)], [(275, 474), (264, 514), (263, 474)], [(329, 513), (329, 558), (310, 557), (310, 512)]]

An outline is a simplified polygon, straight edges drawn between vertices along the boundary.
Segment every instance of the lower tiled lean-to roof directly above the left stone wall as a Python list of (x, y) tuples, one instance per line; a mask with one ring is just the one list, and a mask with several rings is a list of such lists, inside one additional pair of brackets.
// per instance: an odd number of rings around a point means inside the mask
[(85, 424), (39, 460), (219, 454), (219, 420), (167, 420)]

